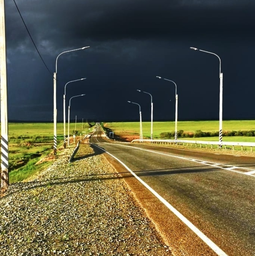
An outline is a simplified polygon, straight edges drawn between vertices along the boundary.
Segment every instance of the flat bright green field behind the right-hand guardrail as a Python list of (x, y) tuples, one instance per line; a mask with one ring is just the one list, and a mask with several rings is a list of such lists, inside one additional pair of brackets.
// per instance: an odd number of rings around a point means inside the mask
[[(142, 122), (142, 129), (143, 129), (143, 137), (150, 138), (150, 122)], [(139, 122), (108, 122), (104, 123), (104, 126), (110, 128), (116, 135), (121, 134), (138, 134), (139, 135)], [(154, 139), (160, 138), (160, 133), (162, 132), (172, 132), (174, 131), (175, 122), (174, 121), (166, 121), (166, 122), (153, 122), (153, 137)], [(230, 120), (230, 121), (223, 121), (223, 130), (226, 131), (239, 131), (239, 130), (254, 130), (255, 129), (255, 120)], [(194, 132), (196, 130), (202, 130), (204, 132), (209, 131), (219, 131), (219, 121), (178, 121), (178, 130), (184, 130), (189, 132)], [(213, 137), (206, 137), (210, 138)], [(206, 140), (204, 137), (203, 140)], [(225, 139), (232, 139), (239, 141), (244, 138), (248, 141), (255, 141), (255, 137), (241, 137), (237, 138), (234, 137), (225, 137)], [(190, 138), (195, 140), (200, 140), (200, 138)], [(215, 140), (215, 138), (213, 139)]]

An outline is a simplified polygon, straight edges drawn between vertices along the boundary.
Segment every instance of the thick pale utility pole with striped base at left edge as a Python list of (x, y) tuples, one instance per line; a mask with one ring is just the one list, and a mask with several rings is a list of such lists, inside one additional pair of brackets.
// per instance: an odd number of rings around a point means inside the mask
[(0, 0), (0, 4), (1, 187), (8, 187), (9, 153), (4, 0)]

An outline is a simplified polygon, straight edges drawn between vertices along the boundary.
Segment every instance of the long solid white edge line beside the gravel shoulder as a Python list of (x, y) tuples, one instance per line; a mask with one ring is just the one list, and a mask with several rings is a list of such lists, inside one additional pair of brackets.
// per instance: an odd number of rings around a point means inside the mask
[[(95, 145), (95, 144), (94, 144)], [(210, 240), (204, 233), (202, 233), (196, 226), (194, 226), (188, 219), (186, 219), (180, 212), (178, 212), (171, 204), (167, 202), (162, 196), (160, 196), (153, 188), (151, 188), (146, 182), (144, 182), (141, 178), (139, 178), (127, 165), (125, 165), (121, 160), (119, 160), (114, 155), (110, 154), (103, 148), (95, 145), (100, 148), (102, 151), (109, 154), (115, 160), (120, 162), (138, 181), (143, 184), (154, 196), (156, 196), (171, 212), (173, 212), (186, 226), (188, 226), (200, 239), (202, 239), (217, 255), (219, 256), (227, 256), (225, 252), (223, 252), (212, 240)]]

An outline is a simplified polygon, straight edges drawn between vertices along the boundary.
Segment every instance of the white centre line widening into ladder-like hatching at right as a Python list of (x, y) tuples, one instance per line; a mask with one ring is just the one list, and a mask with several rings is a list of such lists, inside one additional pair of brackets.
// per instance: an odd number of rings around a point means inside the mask
[[(199, 164), (202, 163), (201, 160), (198, 160), (198, 159), (186, 158), (186, 157), (178, 156), (178, 155), (165, 154), (165, 153), (156, 152), (156, 151), (149, 150), (149, 149), (143, 149), (143, 148), (127, 146), (127, 145), (121, 145), (121, 144), (118, 144), (118, 146), (139, 149), (139, 150), (147, 151), (147, 152), (154, 153), (154, 154), (160, 154), (160, 155), (176, 157), (176, 158), (179, 158), (179, 159), (188, 160), (188, 161), (196, 162), (196, 163), (199, 163)], [(249, 175), (249, 176), (255, 177), (253, 175), (253, 174), (255, 174), (255, 170), (254, 169), (245, 168), (245, 167), (239, 167), (239, 166), (232, 166), (232, 165), (227, 165), (227, 164), (213, 163), (213, 162), (208, 162), (208, 161), (205, 161), (203, 163), (205, 165), (208, 165), (208, 166), (213, 166), (213, 167), (217, 167), (217, 168), (220, 168), (220, 169), (223, 169), (223, 170), (227, 170), (227, 171), (231, 171), (231, 172), (235, 172), (235, 173), (239, 173), (239, 174), (245, 174), (245, 175)], [(226, 167), (222, 167), (222, 165), (225, 165)], [(249, 170), (249, 172), (245, 173), (245, 172), (235, 171), (234, 169), (244, 169), (244, 170), (247, 170), (247, 171)]]

